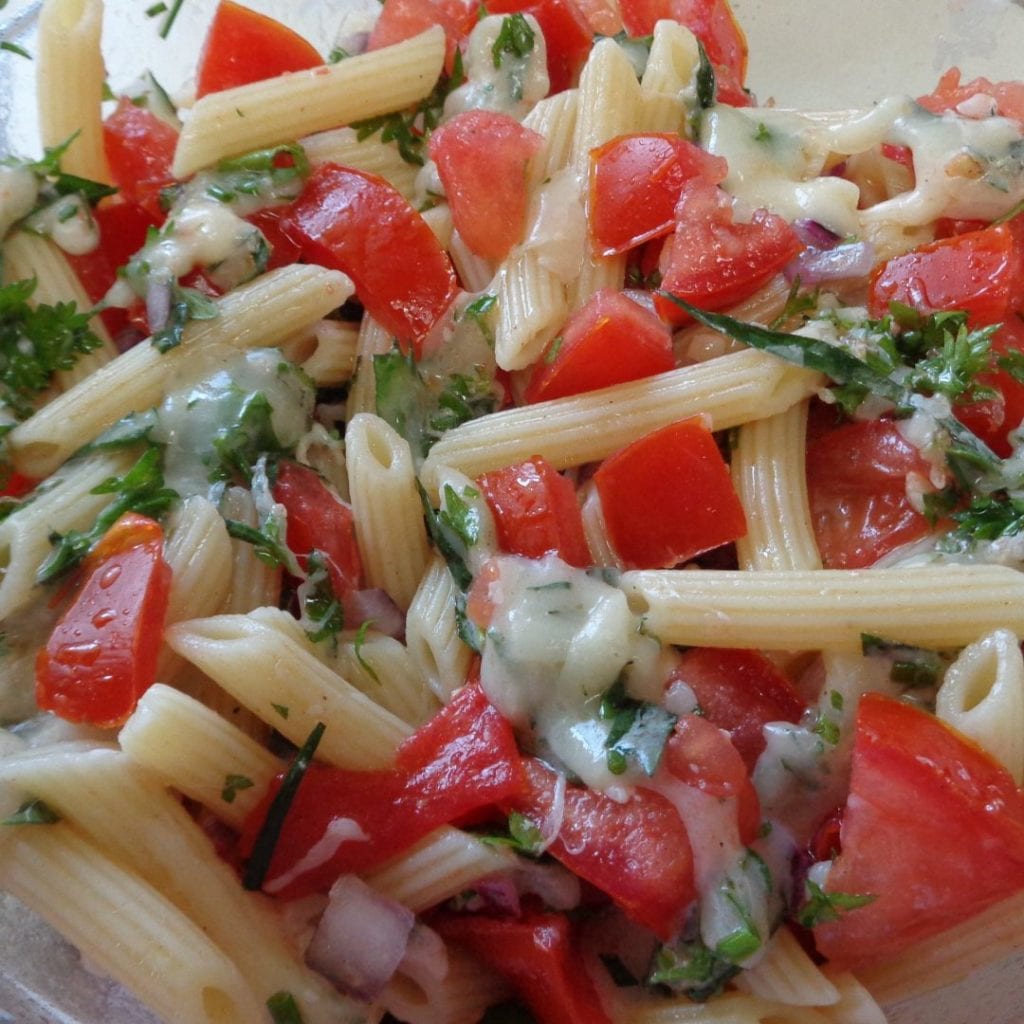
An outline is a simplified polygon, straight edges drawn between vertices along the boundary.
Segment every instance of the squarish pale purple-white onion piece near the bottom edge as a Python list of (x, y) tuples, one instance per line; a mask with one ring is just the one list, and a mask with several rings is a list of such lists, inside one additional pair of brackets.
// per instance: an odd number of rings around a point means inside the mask
[(343, 992), (376, 998), (406, 956), (416, 916), (354, 874), (331, 887), (306, 963)]

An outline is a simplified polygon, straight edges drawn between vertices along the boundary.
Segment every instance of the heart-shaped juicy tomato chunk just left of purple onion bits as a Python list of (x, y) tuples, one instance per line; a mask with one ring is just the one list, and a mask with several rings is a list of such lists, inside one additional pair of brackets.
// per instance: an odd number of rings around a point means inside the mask
[[(676, 230), (662, 250), (662, 289), (700, 309), (722, 309), (753, 295), (801, 250), (800, 239), (781, 217), (756, 210), (735, 223), (732, 199), (700, 178), (683, 185)], [(689, 319), (674, 302), (656, 297), (671, 324)]]

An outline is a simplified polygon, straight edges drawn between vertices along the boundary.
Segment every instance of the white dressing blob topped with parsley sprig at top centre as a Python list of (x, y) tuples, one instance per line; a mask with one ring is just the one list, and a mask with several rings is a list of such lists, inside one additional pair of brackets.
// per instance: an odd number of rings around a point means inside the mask
[(444, 117), (465, 111), (497, 111), (521, 121), (548, 94), (548, 49), (532, 14), (525, 14), (534, 31), (534, 46), (524, 56), (502, 53), (495, 67), (495, 43), (507, 15), (490, 14), (469, 34), (463, 58), (466, 82), (444, 100)]

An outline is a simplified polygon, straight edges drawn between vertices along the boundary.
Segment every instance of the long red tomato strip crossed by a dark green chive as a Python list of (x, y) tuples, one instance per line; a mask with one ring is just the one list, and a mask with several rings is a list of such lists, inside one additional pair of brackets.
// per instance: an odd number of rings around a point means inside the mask
[[(280, 777), (246, 823), (245, 855), (279, 785)], [(263, 888), (289, 898), (326, 891), (339, 874), (375, 867), (442, 824), (514, 799), (521, 787), (511, 726), (479, 686), (465, 686), (398, 748), (392, 770), (310, 766), (285, 819)], [(366, 838), (332, 843), (332, 823), (342, 819), (347, 819), (342, 835), (347, 828), (348, 835)], [(325, 854), (309, 857), (317, 844), (326, 845)], [(308, 866), (299, 867), (307, 857)]]

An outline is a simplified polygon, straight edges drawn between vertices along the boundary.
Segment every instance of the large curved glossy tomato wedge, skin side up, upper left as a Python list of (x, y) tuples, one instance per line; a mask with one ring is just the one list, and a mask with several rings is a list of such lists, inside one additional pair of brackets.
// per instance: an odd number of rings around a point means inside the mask
[(376, 174), (322, 164), (282, 227), (307, 260), (347, 273), (367, 311), (419, 355), (420, 340), (455, 295), (455, 271), (397, 188)]

